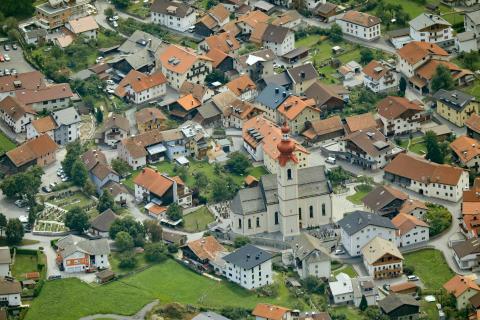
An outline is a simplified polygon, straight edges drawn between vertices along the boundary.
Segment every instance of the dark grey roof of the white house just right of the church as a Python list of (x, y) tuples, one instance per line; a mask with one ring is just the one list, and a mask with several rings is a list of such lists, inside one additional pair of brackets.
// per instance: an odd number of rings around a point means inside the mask
[(378, 214), (358, 210), (347, 213), (342, 220), (338, 221), (338, 225), (348, 235), (353, 235), (367, 226), (396, 229), (390, 219)]

